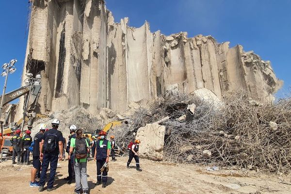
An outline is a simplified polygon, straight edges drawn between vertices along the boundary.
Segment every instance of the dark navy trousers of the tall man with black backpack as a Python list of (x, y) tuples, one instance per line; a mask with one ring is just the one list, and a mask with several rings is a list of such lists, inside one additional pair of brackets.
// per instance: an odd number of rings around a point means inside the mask
[(53, 182), (56, 176), (56, 170), (57, 170), (57, 165), (58, 165), (58, 159), (59, 159), (58, 154), (44, 153), (43, 162), (41, 165), (42, 170), (41, 170), (39, 185), (44, 186), (46, 184), (47, 171), (50, 165), (48, 189), (53, 187)]

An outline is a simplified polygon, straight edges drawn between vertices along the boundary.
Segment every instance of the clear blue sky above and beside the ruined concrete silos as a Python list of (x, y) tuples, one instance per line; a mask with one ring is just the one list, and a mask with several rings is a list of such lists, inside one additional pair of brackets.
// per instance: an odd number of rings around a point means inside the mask
[[(17, 2), (17, 3), (16, 3)], [(241, 44), (270, 60), (276, 76), (284, 81), (276, 95), (291, 86), (291, 0), (107, 0), (115, 22), (129, 17), (140, 27), (145, 20), (152, 32), (169, 35), (188, 32), (212, 35), (218, 42)], [(0, 63), (16, 58), (16, 72), (9, 75), (7, 91), (20, 86), (28, 34), (28, 0), (0, 1)], [(0, 91), (4, 78), (0, 77)]]

